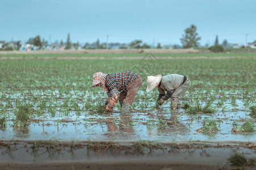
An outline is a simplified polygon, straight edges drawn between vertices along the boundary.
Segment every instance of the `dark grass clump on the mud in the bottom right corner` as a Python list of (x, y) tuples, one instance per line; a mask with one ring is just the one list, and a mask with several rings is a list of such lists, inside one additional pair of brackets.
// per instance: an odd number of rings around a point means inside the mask
[(234, 167), (254, 167), (256, 165), (255, 159), (251, 158), (247, 160), (245, 156), (238, 153), (230, 155), (230, 157), (228, 158), (228, 162)]

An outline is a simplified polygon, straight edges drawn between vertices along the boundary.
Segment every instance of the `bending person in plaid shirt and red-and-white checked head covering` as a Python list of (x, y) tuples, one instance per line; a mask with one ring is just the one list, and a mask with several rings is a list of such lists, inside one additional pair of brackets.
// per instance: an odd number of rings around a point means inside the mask
[(121, 114), (128, 114), (131, 111), (133, 100), (135, 99), (141, 83), (141, 76), (131, 71), (115, 74), (98, 72), (93, 75), (93, 87), (100, 86), (102, 90), (107, 92), (107, 112), (112, 112), (117, 100), (119, 100)]

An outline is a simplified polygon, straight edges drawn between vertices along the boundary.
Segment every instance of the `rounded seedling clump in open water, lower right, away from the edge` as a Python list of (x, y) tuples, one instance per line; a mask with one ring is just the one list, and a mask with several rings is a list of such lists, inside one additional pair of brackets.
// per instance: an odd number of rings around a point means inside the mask
[(202, 128), (199, 128), (196, 131), (216, 132), (216, 131), (219, 131), (219, 128), (218, 128), (219, 126), (220, 124), (217, 120), (207, 118), (203, 121)]

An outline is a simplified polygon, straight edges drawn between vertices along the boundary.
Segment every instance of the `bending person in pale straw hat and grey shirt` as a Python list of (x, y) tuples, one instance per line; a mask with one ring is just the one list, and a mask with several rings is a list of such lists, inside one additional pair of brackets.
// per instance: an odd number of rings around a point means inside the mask
[[(148, 76), (147, 83), (148, 87), (146, 87), (146, 91), (148, 92), (158, 87), (160, 94), (156, 103), (157, 107), (171, 97), (172, 109), (177, 108), (178, 97), (183, 95), (191, 85), (190, 80), (186, 76), (179, 74)], [(166, 94), (165, 91), (167, 91)]]

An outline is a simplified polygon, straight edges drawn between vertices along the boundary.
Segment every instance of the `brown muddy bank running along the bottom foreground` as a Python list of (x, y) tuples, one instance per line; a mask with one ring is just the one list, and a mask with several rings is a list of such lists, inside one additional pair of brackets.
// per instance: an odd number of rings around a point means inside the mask
[[(1, 141), (0, 169), (234, 169), (234, 151), (249, 159), (255, 149), (232, 141)], [(255, 169), (235, 169), (243, 168)]]

